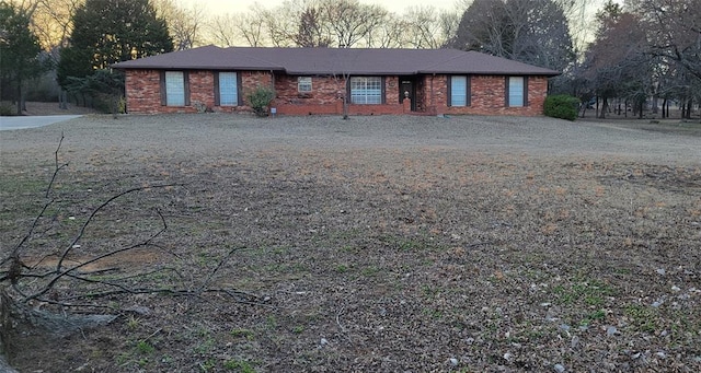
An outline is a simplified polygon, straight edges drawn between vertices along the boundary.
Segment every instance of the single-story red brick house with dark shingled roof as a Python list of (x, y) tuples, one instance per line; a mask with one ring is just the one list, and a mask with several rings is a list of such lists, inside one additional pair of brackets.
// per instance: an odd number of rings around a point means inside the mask
[(456, 49), (220, 48), (119, 62), (127, 110), (249, 110), (246, 93), (276, 92), (277, 114), (540, 115), (558, 71)]

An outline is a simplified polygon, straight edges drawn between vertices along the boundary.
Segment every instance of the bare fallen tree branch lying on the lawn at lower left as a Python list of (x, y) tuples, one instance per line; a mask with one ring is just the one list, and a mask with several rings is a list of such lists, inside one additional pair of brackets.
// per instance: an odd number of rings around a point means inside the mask
[[(47, 330), (55, 328), (60, 334), (69, 334), (74, 330), (82, 330), (83, 327), (92, 327), (110, 323), (117, 316), (92, 314), (93, 311), (99, 308), (108, 308), (118, 312), (125, 311), (119, 306), (110, 304), (113, 300), (111, 300), (110, 303), (104, 302), (104, 299), (108, 296), (153, 294), (205, 299), (205, 294), (219, 293), (230, 296), (238, 303), (274, 307), (273, 305), (265, 303), (269, 298), (261, 299), (256, 294), (235, 289), (211, 288), (211, 283), (220, 270), (231, 260), (238, 250), (243, 249), (244, 247), (234, 247), (230, 249), (218, 261), (217, 266), (211, 269), (206, 277), (204, 277), (203, 281), (199, 281), (199, 278), (202, 277), (197, 277), (194, 271), (189, 271), (189, 281), (192, 282), (188, 283), (188, 287), (185, 287), (187, 283), (185, 278), (187, 272), (181, 272), (176, 266), (172, 268), (159, 268), (157, 270), (145, 270), (143, 272), (131, 275), (128, 272), (120, 273), (120, 266), (111, 266), (110, 268), (99, 268), (94, 270), (92, 270), (92, 268), (87, 268), (100, 263), (101, 260), (105, 260), (120, 254), (130, 253), (139, 248), (149, 247), (169, 252), (157, 242), (157, 240), (169, 229), (165, 217), (158, 208), (156, 208), (154, 211), (158, 215), (160, 228), (156, 232), (148, 234), (148, 236), (139, 240), (138, 242), (123, 245), (122, 247), (111, 249), (104, 254), (95, 254), (92, 257), (81, 259), (80, 261), (76, 261), (73, 259), (71, 254), (80, 247), (79, 243), (85, 236), (91, 224), (95, 222), (100, 212), (105, 210), (108, 206), (131, 194), (185, 185), (180, 183), (133, 187), (111, 196), (91, 211), (85, 221), (76, 232), (73, 238), (70, 240), (65, 248), (59, 249), (58, 253), (45, 254), (38, 259), (38, 261), (33, 263), (30, 266), (22, 263), (21, 252), (23, 248), (28, 246), (28, 242), (37, 235), (42, 219), (46, 217), (47, 211), (49, 211), (49, 207), (55, 203), (54, 198), (48, 198), (55, 189), (55, 183), (60, 171), (68, 166), (68, 163), (61, 164), (59, 162), (59, 151), (61, 149), (62, 141), (64, 133), (61, 133), (61, 138), (55, 151), (55, 168), (45, 193), (45, 198), (47, 198), (47, 200), (44, 202), (38, 214), (33, 219), (27, 233), (22, 236), (13, 249), (7, 254), (7, 256), (2, 257), (0, 261), (0, 320), (3, 323), (2, 328), (0, 328), (0, 347), (3, 347), (2, 343), (4, 343), (4, 346), (11, 345), (5, 339), (4, 330), (9, 325), (8, 319), (13, 317), (16, 320), (31, 320), (32, 325), (41, 326)], [(50, 228), (42, 234), (46, 234), (49, 230)], [(171, 254), (179, 257), (175, 253)], [(54, 265), (51, 263), (48, 268), (46, 266), (43, 267), (42, 264), (44, 264), (50, 256), (57, 257), (56, 264)], [(153, 275), (169, 271), (174, 273), (169, 279), (172, 280), (169, 282), (171, 285), (168, 285), (164, 281), (154, 281), (150, 279)], [(105, 272), (111, 273), (101, 278), (100, 275)], [(103, 301), (100, 302), (100, 300)], [(38, 307), (43, 305), (47, 305), (48, 310), (39, 311)], [(89, 315), (78, 316), (77, 314), (79, 313), (89, 313)], [(151, 338), (152, 336), (148, 338)], [(0, 351), (2, 351), (2, 349), (0, 349)], [(4, 371), (2, 370), (4, 368), (2, 363), (3, 360), (0, 354), (0, 371)]]

